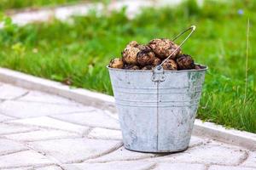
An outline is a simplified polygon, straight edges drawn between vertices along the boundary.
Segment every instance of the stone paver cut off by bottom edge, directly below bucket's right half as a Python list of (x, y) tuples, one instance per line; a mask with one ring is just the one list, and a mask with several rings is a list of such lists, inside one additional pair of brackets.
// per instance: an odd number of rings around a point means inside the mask
[(159, 163), (154, 170), (207, 170), (203, 164), (189, 163)]

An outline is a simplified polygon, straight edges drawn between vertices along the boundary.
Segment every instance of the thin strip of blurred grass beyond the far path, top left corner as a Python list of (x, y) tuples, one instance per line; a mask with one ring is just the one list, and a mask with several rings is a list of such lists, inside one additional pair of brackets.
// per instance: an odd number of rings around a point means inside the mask
[(38, 8), (57, 4), (77, 3), (81, 0), (0, 0), (0, 10), (17, 8)]

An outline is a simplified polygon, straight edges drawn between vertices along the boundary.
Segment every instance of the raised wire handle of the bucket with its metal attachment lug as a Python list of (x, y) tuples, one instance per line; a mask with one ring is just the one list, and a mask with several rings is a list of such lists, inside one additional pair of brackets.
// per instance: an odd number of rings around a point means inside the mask
[[(183, 42), (181, 42), (177, 46), (177, 48), (172, 52), (172, 54), (174, 54), (177, 51), (177, 49), (180, 48), (183, 45), (183, 43), (189, 39), (189, 37), (195, 31), (195, 29), (196, 29), (196, 26), (190, 26), (188, 29), (182, 31), (181, 33), (179, 33), (176, 37), (174, 37), (172, 39), (172, 41), (174, 42), (175, 40), (177, 40), (178, 37), (181, 37), (185, 32), (191, 30), (189, 35), (183, 40)], [(166, 77), (164, 76), (164, 69), (163, 69), (162, 65), (166, 62), (167, 59), (169, 59), (172, 56), (172, 54), (170, 54), (166, 59), (164, 59), (160, 65), (156, 65), (154, 67), (153, 76), (151, 78), (153, 82), (164, 82), (166, 80)]]

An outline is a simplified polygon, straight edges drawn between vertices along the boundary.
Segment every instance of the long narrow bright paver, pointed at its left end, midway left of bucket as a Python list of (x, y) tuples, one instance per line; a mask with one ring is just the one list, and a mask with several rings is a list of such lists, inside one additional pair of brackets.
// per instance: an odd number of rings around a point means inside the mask
[(34, 125), (38, 127), (49, 127), (49, 128), (61, 129), (61, 130), (66, 130), (69, 132), (75, 132), (75, 133), (81, 133), (81, 134), (84, 134), (89, 129), (88, 127), (76, 125), (69, 122), (59, 121), (54, 118), (50, 118), (48, 116), (19, 119), (19, 120), (10, 121), (10, 122), (20, 123), (24, 125)]

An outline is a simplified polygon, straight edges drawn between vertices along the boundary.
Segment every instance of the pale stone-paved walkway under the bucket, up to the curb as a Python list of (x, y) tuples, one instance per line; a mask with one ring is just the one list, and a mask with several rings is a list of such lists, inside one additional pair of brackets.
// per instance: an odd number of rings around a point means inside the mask
[(0, 82), (0, 169), (255, 170), (256, 152), (195, 136), (182, 153), (132, 152), (115, 114)]

